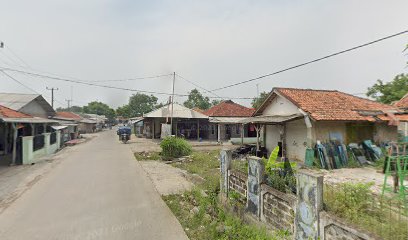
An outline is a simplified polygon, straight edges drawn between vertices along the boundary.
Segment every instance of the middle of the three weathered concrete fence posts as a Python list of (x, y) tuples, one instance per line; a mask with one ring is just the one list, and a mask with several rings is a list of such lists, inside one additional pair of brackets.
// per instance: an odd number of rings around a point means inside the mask
[(261, 217), (261, 183), (264, 176), (264, 164), (261, 158), (248, 158), (248, 196), (247, 210), (258, 219)]

